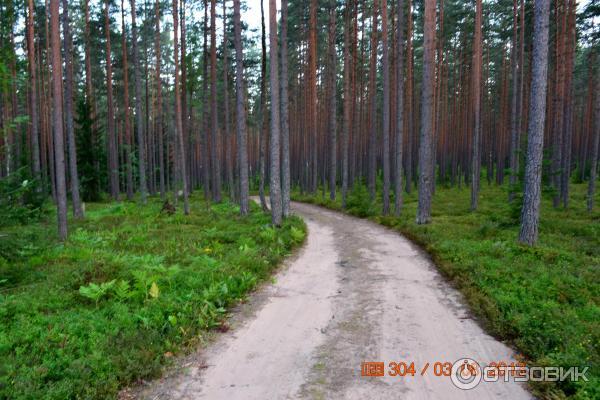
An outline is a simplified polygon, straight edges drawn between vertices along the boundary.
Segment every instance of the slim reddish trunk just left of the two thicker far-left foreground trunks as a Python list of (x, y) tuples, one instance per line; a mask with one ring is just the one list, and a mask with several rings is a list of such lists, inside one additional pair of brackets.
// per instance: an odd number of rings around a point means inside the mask
[(29, 114), (31, 124), (31, 160), (32, 172), (35, 179), (41, 179), (41, 161), (40, 161), (40, 133), (38, 116), (38, 97), (37, 97), (37, 64), (35, 61), (35, 38), (33, 25), (35, 23), (33, 0), (28, 0), (27, 13), (27, 57), (29, 67)]

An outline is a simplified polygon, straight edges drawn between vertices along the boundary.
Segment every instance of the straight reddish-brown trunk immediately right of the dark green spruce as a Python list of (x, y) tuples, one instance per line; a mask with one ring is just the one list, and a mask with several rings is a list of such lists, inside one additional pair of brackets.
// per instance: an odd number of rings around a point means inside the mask
[(104, 27), (106, 31), (106, 140), (108, 141), (108, 169), (110, 182), (110, 196), (119, 200), (119, 160), (117, 158), (117, 139), (115, 136), (115, 110), (113, 106), (112, 91), (112, 59), (110, 54), (110, 0), (106, 0), (104, 7)]

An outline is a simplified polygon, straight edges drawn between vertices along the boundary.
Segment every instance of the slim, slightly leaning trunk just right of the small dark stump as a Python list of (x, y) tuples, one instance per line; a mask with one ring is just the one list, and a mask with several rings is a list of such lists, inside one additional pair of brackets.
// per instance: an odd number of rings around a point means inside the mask
[(179, 29), (179, 15), (177, 12), (178, 1), (179, 0), (173, 0), (173, 60), (175, 63), (175, 87), (173, 88), (173, 90), (175, 93), (175, 132), (177, 136), (177, 145), (179, 150), (179, 172), (181, 177), (181, 183), (183, 186), (183, 213), (185, 215), (188, 215), (190, 213), (190, 204), (188, 200), (185, 147), (183, 144), (183, 124), (181, 120), (181, 91), (179, 87), (179, 37), (177, 32), (177, 30)]

